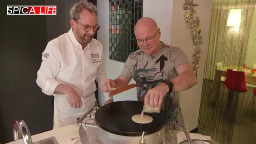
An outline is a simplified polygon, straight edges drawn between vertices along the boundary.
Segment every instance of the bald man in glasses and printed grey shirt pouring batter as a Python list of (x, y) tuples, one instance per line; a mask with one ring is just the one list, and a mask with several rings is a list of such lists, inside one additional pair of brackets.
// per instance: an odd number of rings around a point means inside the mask
[[(160, 107), (168, 117), (167, 130), (180, 130), (177, 91), (184, 91), (197, 83), (187, 56), (180, 48), (160, 41), (161, 31), (151, 18), (140, 19), (134, 30), (139, 50), (131, 53), (116, 80), (108, 79), (104, 92), (136, 81), (137, 98), (150, 107)], [(142, 85), (141, 85), (142, 84)], [(146, 84), (146, 85), (145, 85)]]

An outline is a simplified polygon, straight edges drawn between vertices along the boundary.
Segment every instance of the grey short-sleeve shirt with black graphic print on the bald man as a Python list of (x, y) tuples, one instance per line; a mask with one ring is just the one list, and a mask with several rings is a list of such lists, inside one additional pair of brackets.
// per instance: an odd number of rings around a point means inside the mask
[[(141, 50), (131, 53), (125, 62), (120, 76), (133, 78), (137, 84), (137, 98), (144, 101), (147, 91), (159, 84), (159, 81), (177, 76), (177, 67), (189, 64), (187, 56), (180, 48), (162, 42), (162, 48), (154, 55), (148, 55)], [(158, 80), (158, 81), (157, 81)], [(176, 92), (167, 93), (163, 99), (163, 108), (168, 117), (169, 129), (179, 130), (179, 98)]]

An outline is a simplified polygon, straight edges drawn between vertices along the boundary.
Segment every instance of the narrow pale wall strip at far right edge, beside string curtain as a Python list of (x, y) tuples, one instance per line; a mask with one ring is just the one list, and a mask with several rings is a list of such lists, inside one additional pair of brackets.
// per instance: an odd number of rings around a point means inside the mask
[(253, 63), (256, 63), (256, 11), (254, 10), (253, 20), (251, 24), (251, 31), (248, 40), (247, 54), (245, 64), (248, 67), (252, 67)]

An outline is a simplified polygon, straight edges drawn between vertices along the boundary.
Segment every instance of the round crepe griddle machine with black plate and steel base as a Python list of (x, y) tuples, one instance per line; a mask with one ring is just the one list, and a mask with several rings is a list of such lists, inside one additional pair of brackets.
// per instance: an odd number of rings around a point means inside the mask
[(143, 105), (142, 101), (116, 101), (99, 107), (94, 115), (99, 140), (103, 144), (139, 144), (143, 139), (145, 144), (161, 143), (165, 138), (165, 112), (144, 113), (153, 118), (151, 123), (133, 122), (131, 117), (141, 114)]

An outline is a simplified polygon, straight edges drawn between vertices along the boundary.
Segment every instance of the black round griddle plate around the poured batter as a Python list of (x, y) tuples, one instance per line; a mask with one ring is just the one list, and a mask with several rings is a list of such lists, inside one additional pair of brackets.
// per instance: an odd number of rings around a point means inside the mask
[(144, 102), (142, 101), (117, 101), (100, 107), (95, 113), (97, 125), (108, 131), (122, 136), (141, 136), (155, 133), (165, 125), (166, 115), (160, 113), (144, 113), (153, 118), (151, 123), (141, 124), (131, 120), (133, 115), (141, 114)]

